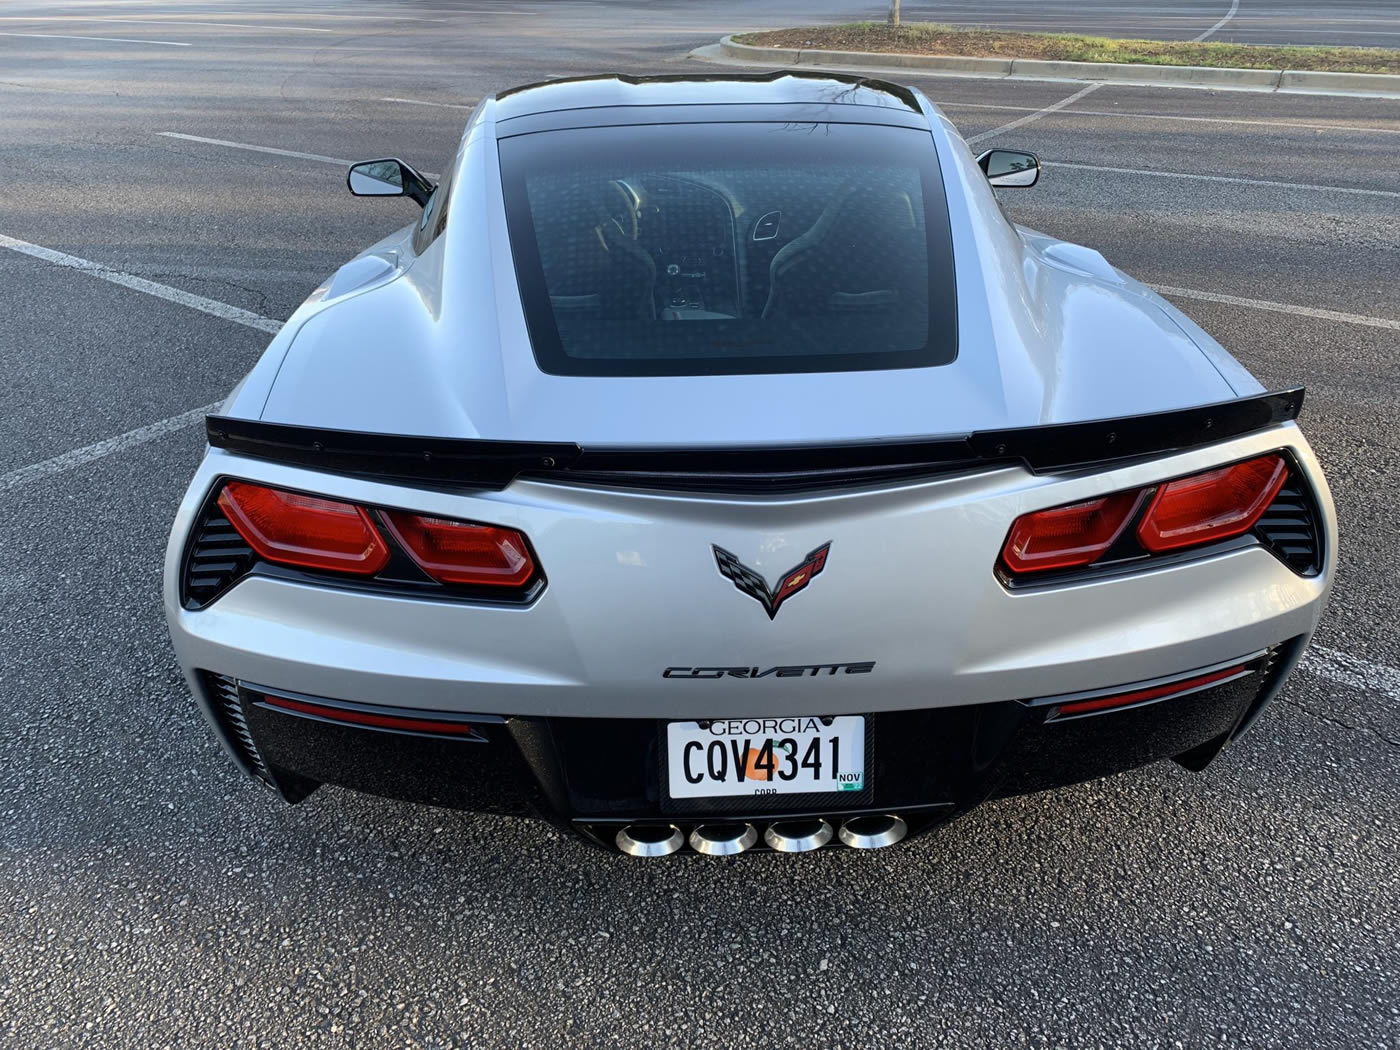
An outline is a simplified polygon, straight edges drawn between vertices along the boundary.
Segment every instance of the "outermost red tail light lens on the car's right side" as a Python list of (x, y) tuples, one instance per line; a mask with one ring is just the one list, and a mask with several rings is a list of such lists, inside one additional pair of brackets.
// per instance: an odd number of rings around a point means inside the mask
[(1280, 455), (1168, 482), (1138, 524), (1138, 540), (1154, 553), (1239, 536), (1278, 496), (1288, 477)]

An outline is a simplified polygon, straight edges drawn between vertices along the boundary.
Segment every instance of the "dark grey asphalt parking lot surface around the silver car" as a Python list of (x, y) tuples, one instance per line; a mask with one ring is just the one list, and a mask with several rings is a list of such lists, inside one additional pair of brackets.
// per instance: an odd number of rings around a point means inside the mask
[[(1071, 6), (977, 6), (1002, 7)], [(1170, 10), (1200, 32), (1228, 7)], [(1239, 7), (1400, 41), (1393, 4)], [(1205, 773), (998, 802), (868, 855), (638, 862), (335, 788), (286, 806), (197, 717), (160, 608), (192, 410), (256, 360), (258, 318), (416, 213), (350, 197), (337, 161), (442, 171), (486, 92), (714, 73), (687, 52), (804, 17), (846, 8), (3, 8), (0, 1046), (1400, 1047), (1394, 101), (1100, 87), (1039, 115), (1078, 87), (911, 78), (966, 136), (1036, 116), (986, 140), (1050, 165), (1004, 193), (1014, 218), (1309, 388), (1331, 608)]]

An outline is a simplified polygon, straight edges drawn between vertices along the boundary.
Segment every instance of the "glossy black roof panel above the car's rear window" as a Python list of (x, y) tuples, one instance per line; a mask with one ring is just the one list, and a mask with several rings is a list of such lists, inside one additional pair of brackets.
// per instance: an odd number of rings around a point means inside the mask
[(497, 120), (570, 109), (685, 105), (843, 105), (923, 116), (914, 92), (899, 84), (843, 73), (777, 70), (630, 77), (620, 73), (549, 80), (503, 91)]

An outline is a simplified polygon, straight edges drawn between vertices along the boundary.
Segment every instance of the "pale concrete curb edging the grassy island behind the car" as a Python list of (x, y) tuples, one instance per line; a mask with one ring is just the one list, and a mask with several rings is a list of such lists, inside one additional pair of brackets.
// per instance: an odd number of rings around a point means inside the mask
[(1310, 70), (1229, 69), (1215, 66), (1154, 66), (1148, 63), (1050, 62), (1043, 59), (977, 59), (958, 55), (886, 55), (862, 50), (757, 48), (720, 38), (717, 48), (700, 48), (696, 57), (720, 57), (764, 66), (818, 69), (917, 70), (972, 77), (1028, 80), (1088, 80), (1168, 87), (1211, 87), (1239, 91), (1292, 91), (1400, 98), (1400, 76), (1389, 73), (1315, 73)]

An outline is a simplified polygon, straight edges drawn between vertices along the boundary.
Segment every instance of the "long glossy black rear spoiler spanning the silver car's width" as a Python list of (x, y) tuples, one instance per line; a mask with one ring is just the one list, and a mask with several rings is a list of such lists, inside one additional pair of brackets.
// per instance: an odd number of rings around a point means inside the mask
[(1144, 416), (977, 430), (923, 441), (748, 448), (582, 448), (571, 442), (405, 437), (209, 416), (209, 444), (329, 473), (500, 490), (517, 477), (665, 479), (773, 490), (1022, 463), (1033, 473), (1180, 452), (1298, 417), (1303, 388)]

